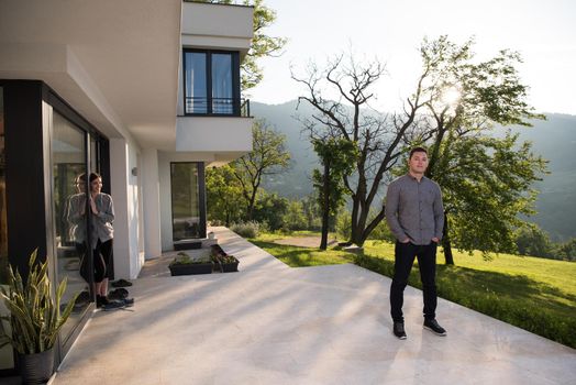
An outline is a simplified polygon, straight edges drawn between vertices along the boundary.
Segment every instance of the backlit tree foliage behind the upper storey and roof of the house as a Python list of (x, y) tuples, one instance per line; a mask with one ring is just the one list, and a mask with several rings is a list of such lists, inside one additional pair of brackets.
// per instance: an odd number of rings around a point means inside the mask
[[(221, 4), (237, 3), (233, 0), (200, 1)], [(284, 37), (268, 36), (264, 32), (264, 30), (276, 20), (276, 12), (264, 6), (263, 0), (244, 0), (242, 4), (254, 7), (254, 16), (252, 19), (254, 37), (252, 38), (248, 53), (240, 66), (242, 73), (242, 89), (246, 90), (255, 87), (263, 78), (262, 68), (256, 63), (257, 59), (265, 56), (279, 56), (287, 40)]]

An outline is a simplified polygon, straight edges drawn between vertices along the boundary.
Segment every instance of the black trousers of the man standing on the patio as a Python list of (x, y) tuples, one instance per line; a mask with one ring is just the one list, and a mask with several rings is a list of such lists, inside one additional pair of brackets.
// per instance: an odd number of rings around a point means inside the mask
[(437, 244), (434, 242), (428, 245), (416, 245), (411, 242), (400, 243), (396, 241), (394, 278), (390, 287), (390, 307), (395, 322), (403, 322), (403, 294), (414, 257), (418, 257), (420, 279), (422, 280), (422, 289), (424, 292), (424, 318), (435, 318), (436, 248)]

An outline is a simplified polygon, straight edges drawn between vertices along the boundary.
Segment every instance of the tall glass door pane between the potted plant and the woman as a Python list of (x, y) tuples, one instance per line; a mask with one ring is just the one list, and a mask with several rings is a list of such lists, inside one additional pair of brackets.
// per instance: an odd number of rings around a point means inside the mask
[(88, 283), (80, 275), (81, 266), (87, 264), (87, 133), (56, 110), (53, 110), (52, 131), (52, 196), (57, 282), (65, 277), (68, 282), (64, 305), (74, 294), (80, 293), (73, 315), (62, 330), (60, 336), (66, 340), (80, 322), (91, 298)]

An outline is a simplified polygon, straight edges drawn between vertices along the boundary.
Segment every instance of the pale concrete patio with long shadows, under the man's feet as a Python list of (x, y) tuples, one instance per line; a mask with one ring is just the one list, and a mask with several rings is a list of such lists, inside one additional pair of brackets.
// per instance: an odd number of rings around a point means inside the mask
[(52, 384), (574, 384), (576, 351), (446, 300), (447, 337), (391, 333), (390, 279), (355, 265), (290, 268), (217, 228), (240, 273), (170, 277), (149, 261), (131, 311), (98, 311)]

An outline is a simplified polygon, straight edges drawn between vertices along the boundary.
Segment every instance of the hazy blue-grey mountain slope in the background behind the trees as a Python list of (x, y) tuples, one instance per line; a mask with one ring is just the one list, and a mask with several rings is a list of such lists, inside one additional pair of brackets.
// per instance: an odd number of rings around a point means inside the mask
[[(319, 167), (318, 158), (302, 124), (296, 117), (310, 117), (307, 102), (296, 100), (283, 105), (251, 102), (255, 118), (265, 119), (286, 135), (292, 157), (290, 169), (265, 182), (265, 188), (289, 198), (301, 198), (312, 193), (311, 170)], [(576, 116), (549, 113), (546, 120), (532, 121), (533, 127), (512, 127), (521, 141), (532, 142), (532, 151), (549, 161), (550, 174), (534, 185), (540, 190), (530, 221), (551, 234), (554, 241), (576, 238)]]

